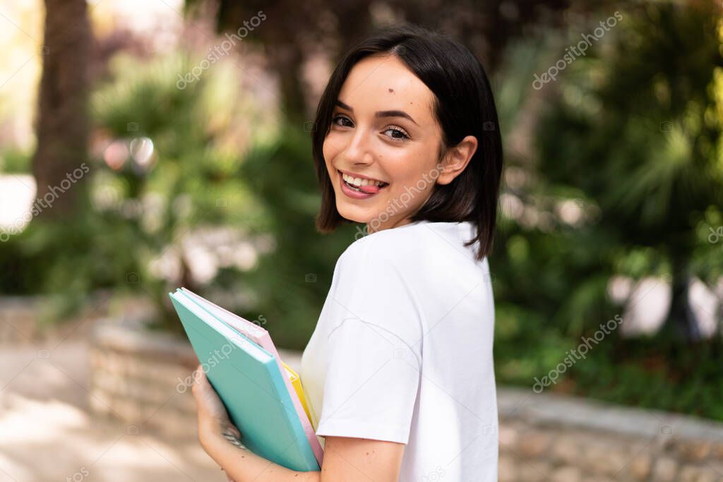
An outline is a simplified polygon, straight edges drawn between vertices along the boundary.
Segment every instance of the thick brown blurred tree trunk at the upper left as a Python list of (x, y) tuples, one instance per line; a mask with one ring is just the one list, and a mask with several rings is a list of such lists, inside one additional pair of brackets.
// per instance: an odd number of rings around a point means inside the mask
[(87, 163), (88, 59), (93, 35), (85, 0), (46, 0), (43, 77), (38, 95), (33, 174), (38, 216), (67, 218)]

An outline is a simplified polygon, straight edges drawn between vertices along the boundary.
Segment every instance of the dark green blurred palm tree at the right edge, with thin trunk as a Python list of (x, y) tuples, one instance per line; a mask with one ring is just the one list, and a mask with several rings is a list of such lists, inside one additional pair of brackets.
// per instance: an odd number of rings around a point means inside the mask
[(723, 205), (721, 18), (714, 2), (623, 14), (609, 50), (589, 51), (558, 79), (539, 131), (548, 180), (593, 199), (601, 232), (624, 248), (667, 259), (668, 323), (688, 340), (698, 338), (688, 304), (696, 225)]

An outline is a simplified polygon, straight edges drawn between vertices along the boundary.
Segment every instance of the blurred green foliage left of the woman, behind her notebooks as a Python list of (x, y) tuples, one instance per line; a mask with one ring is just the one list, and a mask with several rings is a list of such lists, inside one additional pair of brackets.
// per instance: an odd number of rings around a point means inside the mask
[[(2, 277), (4, 293), (57, 294), (64, 305), (54, 319), (99, 288), (136, 293), (158, 307), (151, 327), (180, 332), (168, 291), (183, 285), (262, 320), (279, 345), (303, 348), (353, 227), (315, 232), (320, 197), (302, 125), (254, 104), (235, 87), (233, 66), (214, 66), (179, 89), (179, 74), (191, 68), (183, 56), (140, 66), (114, 59), (93, 95), (100, 152), (82, 186), (85, 204), (67, 223), (35, 220), (0, 246), (14, 273)], [(151, 143), (152, 155), (137, 162)], [(222, 263), (212, 279), (197, 280), (184, 241), (218, 228), (265, 240), (272, 252), (258, 249), (254, 266)], [(180, 274), (153, 269), (169, 258)]]

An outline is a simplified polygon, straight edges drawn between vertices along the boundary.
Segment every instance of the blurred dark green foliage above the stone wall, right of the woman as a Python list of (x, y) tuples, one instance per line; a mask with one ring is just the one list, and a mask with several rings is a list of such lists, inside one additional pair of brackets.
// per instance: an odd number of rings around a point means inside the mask
[[(508, 155), (518, 214), (502, 218), (490, 259), (498, 380), (532, 387), (621, 314), (612, 276), (667, 276), (663, 330), (612, 332), (547, 390), (723, 419), (721, 333), (690, 336), (687, 298), (692, 277), (713, 289), (723, 275), (723, 243), (709, 241), (723, 229), (723, 24), (713, 4), (648, 3), (622, 16), (544, 87), (534, 159)], [(594, 27), (549, 38), (537, 72)], [(528, 56), (516, 48), (512, 64)]]

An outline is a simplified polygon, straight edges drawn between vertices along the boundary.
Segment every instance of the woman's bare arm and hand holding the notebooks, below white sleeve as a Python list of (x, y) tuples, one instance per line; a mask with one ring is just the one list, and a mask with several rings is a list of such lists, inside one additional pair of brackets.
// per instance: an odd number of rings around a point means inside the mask
[(229, 440), (241, 434), (229, 421), (226, 408), (201, 366), (195, 372), (192, 392), (198, 410), (201, 446), (235, 482), (398, 481), (404, 444), (327, 436), (321, 471), (297, 472), (255, 455)]

